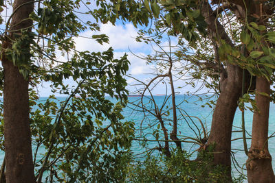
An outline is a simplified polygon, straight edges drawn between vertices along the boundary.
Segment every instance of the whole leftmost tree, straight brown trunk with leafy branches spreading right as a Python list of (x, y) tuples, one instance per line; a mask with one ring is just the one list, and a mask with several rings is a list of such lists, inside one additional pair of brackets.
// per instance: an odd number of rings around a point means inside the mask
[[(37, 3), (36, 11), (34, 3)], [(91, 180), (84, 169), (99, 181), (113, 180), (123, 173), (112, 173), (110, 169), (118, 166), (113, 162), (126, 154), (133, 136), (133, 124), (122, 123), (120, 114), (127, 95), (126, 80), (122, 75), (128, 70), (129, 61), (126, 55), (113, 58), (111, 48), (102, 53), (74, 49), (74, 36), (87, 27), (98, 29), (96, 23), (78, 20), (74, 12), (76, 8), (80, 8), (79, 1), (19, 0), (13, 3), (14, 10), (1, 39), (5, 123), (5, 163), (1, 178), (5, 167), (6, 182), (41, 182), (45, 171), (50, 172), (51, 181), (54, 176), (57, 176), (56, 180), (64, 180), (58, 178), (56, 169), (62, 169), (66, 179), (72, 181)], [(93, 38), (101, 44), (108, 41), (105, 35)], [(67, 62), (58, 60), (56, 51), (70, 55)], [(69, 78), (77, 86), (63, 83)], [(54, 93), (59, 91), (69, 96), (61, 102), (61, 108), (52, 101), (54, 97), (50, 97), (33, 111), (39, 100), (33, 88), (45, 81), (52, 82)], [(106, 94), (115, 97), (119, 104), (115, 106), (105, 99)], [(81, 98), (75, 98), (75, 95)], [(104, 127), (103, 123), (109, 125)], [(34, 162), (31, 134), (37, 145)], [(65, 149), (58, 146), (61, 143)], [(83, 146), (76, 148), (80, 143)], [(47, 152), (38, 159), (37, 150), (41, 146)], [(109, 151), (104, 152), (107, 147)], [(93, 148), (98, 151), (92, 151)], [(116, 157), (118, 154), (120, 156)], [(101, 162), (100, 158), (109, 158), (109, 161)], [(70, 162), (72, 159), (74, 163)], [(94, 167), (88, 166), (91, 162)], [(110, 168), (101, 168), (104, 164)]]

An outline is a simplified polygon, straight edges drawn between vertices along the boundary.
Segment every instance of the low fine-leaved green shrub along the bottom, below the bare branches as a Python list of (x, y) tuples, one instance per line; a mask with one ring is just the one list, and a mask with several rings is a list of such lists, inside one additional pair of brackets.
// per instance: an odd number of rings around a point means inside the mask
[[(148, 156), (129, 169), (130, 182), (230, 182), (225, 167), (214, 166), (212, 154), (201, 151), (197, 160), (190, 160), (186, 151), (174, 151), (170, 158)], [(236, 178), (234, 182), (242, 182)]]

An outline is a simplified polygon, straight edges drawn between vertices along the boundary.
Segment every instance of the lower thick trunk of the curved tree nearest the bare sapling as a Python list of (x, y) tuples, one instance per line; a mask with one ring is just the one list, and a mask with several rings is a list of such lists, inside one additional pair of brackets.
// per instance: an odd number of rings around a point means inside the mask
[[(237, 68), (236, 68), (237, 69)], [(225, 81), (226, 86), (221, 90), (217, 100), (208, 145), (214, 145), (214, 164), (222, 164), (227, 167), (228, 178), (231, 178), (231, 134), (232, 123), (238, 100), (241, 97), (241, 77), (236, 76), (239, 80)]]

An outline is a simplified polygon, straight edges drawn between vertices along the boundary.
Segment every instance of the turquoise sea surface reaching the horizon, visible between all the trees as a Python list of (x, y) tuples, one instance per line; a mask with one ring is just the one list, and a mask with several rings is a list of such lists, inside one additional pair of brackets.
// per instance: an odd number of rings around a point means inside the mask
[[(115, 99), (111, 99), (114, 103)], [(45, 97), (41, 97), (41, 102), (45, 101)], [(66, 97), (57, 97), (57, 101), (63, 101)], [(152, 133), (153, 130), (157, 130), (158, 120), (153, 116), (156, 110), (160, 110), (162, 108), (162, 119), (168, 129), (168, 134), (170, 134), (172, 130), (172, 120), (173, 120), (173, 110), (171, 108), (172, 101), (170, 97), (166, 96), (145, 96), (141, 102), (141, 97), (129, 97), (129, 104), (123, 110), (123, 115), (125, 117), (125, 121), (133, 121), (135, 123), (135, 141), (133, 141), (131, 150), (133, 154), (136, 155), (137, 158), (142, 160), (141, 152), (146, 151), (150, 148), (157, 147), (156, 142), (148, 142), (146, 147), (144, 148), (141, 145), (142, 141), (138, 141), (139, 139), (143, 139), (144, 137), (148, 140), (155, 140)], [(177, 123), (178, 123), (178, 137), (179, 138), (198, 138), (203, 137), (203, 127), (205, 128), (206, 134), (209, 135), (211, 120), (212, 120), (212, 111), (213, 111), (213, 103), (217, 98), (210, 97), (210, 95), (200, 95), (200, 96), (190, 96), (190, 95), (177, 95), (175, 98), (177, 105)], [(247, 103), (247, 106), (250, 104)], [(168, 112), (167, 112), (168, 111)], [(245, 110), (245, 130), (247, 130), (248, 134), (252, 132), (252, 117), (253, 114), (250, 110)], [(200, 122), (201, 121), (201, 122)], [(203, 127), (202, 127), (203, 125)], [(236, 132), (241, 131), (241, 110), (237, 108), (236, 114), (234, 117), (234, 127), (232, 133), (232, 140), (236, 138), (241, 138), (242, 133)], [(159, 130), (161, 127), (159, 127)], [(270, 126), (269, 126), (269, 135), (273, 135), (275, 132), (275, 104), (270, 103)], [(250, 136), (247, 134), (247, 138)], [(163, 139), (161, 132), (159, 132), (159, 140)], [(189, 139), (189, 138), (188, 138)], [(199, 145), (194, 145), (193, 143), (189, 143), (190, 139), (186, 139), (186, 143), (182, 143), (182, 147), (192, 154), (192, 158), (196, 157), (196, 150), (199, 148)], [(248, 139), (248, 148), (250, 147), (250, 139)], [(192, 142), (192, 141), (191, 141)], [(170, 143), (173, 147), (173, 143)], [(269, 149), (270, 154), (275, 157), (275, 138), (270, 138), (269, 140)], [(34, 150), (34, 147), (33, 147)], [(43, 150), (42, 150), (43, 151)], [(40, 153), (43, 153), (40, 151)], [(243, 151), (243, 140), (235, 140), (232, 141), (232, 152), (234, 154), (234, 158), (236, 162), (239, 164), (239, 167), (245, 168), (245, 161), (247, 160), (247, 156)], [(157, 156), (158, 152), (154, 152), (154, 155)], [(4, 154), (0, 154), (0, 161), (3, 160)], [(272, 161), (273, 167), (275, 166), (275, 162)], [(233, 175), (238, 176), (241, 171), (240, 168), (236, 168), (236, 164), (232, 163), (232, 171)], [(246, 174), (246, 171), (243, 171)]]

